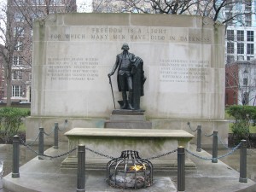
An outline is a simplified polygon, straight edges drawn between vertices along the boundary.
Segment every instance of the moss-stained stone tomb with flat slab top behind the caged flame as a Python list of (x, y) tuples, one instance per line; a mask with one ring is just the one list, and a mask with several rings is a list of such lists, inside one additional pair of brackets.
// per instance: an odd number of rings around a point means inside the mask
[[(119, 157), (123, 150), (137, 150), (143, 159), (177, 149), (178, 146), (189, 148), (189, 141), (194, 137), (183, 130), (153, 130), (153, 129), (102, 129), (102, 128), (73, 128), (67, 131), (69, 149), (84, 144), (101, 154)], [(86, 168), (101, 169), (108, 163), (108, 158), (86, 150)], [(163, 169), (176, 167), (177, 152), (151, 160), (154, 166)], [(188, 162), (188, 163), (187, 163)], [(186, 164), (193, 163), (186, 158)], [(75, 168), (77, 166), (77, 153), (70, 154), (61, 164), (62, 168)]]

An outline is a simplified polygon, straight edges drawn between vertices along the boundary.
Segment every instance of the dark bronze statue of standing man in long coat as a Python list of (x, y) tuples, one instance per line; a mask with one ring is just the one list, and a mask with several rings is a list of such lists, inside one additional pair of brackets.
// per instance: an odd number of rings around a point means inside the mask
[(118, 87), (123, 97), (121, 109), (140, 110), (140, 97), (144, 95), (143, 84), (146, 80), (143, 60), (128, 51), (128, 44), (123, 44), (121, 49), (123, 52), (116, 56), (113, 70), (108, 73), (108, 77), (118, 69)]

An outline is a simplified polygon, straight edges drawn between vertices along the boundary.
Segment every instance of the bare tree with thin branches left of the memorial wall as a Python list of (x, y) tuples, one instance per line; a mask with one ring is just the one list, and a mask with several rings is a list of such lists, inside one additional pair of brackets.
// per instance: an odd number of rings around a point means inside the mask
[(19, 75), (31, 73), (33, 21), (44, 20), (50, 14), (76, 12), (76, 4), (73, 0), (8, 0), (7, 4), (0, 3), (0, 9), (0, 38), (3, 42), (0, 55), (3, 56), (7, 106), (10, 106), (12, 78), (22, 80)]

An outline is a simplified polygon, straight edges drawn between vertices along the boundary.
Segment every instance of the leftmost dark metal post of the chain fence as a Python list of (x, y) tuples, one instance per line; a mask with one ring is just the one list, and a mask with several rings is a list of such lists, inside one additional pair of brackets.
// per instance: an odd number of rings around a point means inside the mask
[(13, 178), (20, 177), (19, 162), (20, 162), (20, 137), (19, 136), (14, 136), (14, 141), (13, 141), (13, 172), (12, 172), (12, 177)]

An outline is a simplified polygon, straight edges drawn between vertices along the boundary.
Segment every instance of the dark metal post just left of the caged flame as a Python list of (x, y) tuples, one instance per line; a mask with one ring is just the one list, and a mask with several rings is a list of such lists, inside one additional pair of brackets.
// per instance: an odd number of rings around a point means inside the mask
[(85, 145), (79, 144), (77, 192), (85, 192)]

